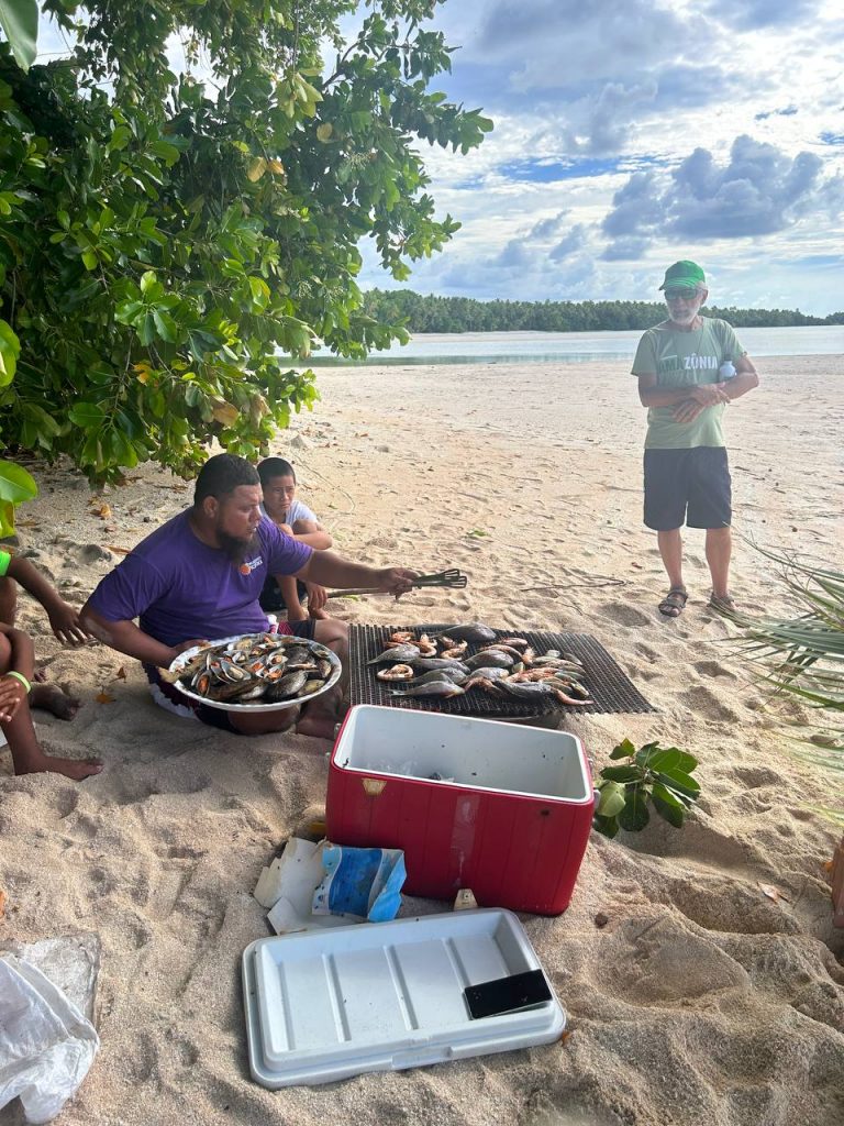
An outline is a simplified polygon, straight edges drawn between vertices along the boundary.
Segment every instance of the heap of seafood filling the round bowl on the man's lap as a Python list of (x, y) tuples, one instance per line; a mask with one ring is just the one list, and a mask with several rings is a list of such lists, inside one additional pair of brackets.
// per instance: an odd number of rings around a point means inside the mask
[(183, 665), (177, 658), (161, 676), (207, 700), (280, 704), (324, 688), (335, 670), (331, 656), (324, 645), (304, 637), (246, 634), (210, 643)]

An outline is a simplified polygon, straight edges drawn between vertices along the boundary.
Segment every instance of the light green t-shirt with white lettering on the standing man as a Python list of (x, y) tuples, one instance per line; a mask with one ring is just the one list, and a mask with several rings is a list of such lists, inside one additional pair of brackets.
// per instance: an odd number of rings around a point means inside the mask
[[(735, 363), (747, 352), (733, 327), (715, 318), (702, 318), (700, 329), (680, 332), (671, 321), (648, 329), (639, 341), (634, 359), (634, 375), (656, 373), (657, 387), (694, 387), (718, 383), (718, 368)], [(691, 449), (692, 446), (724, 446), (721, 417), (725, 403), (707, 406), (693, 422), (675, 422), (674, 406), (648, 410), (645, 449)]]

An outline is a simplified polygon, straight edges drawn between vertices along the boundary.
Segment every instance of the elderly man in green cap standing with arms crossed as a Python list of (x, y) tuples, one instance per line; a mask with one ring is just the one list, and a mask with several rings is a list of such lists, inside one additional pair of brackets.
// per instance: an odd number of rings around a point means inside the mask
[(659, 288), (668, 318), (643, 336), (632, 374), (641, 404), (648, 408), (645, 524), (656, 531), (668, 574), (659, 611), (675, 618), (689, 597), (683, 524), (706, 528), (710, 605), (734, 608), (728, 588), (730, 476), (721, 420), (726, 405), (757, 386), (758, 376), (733, 328), (700, 315), (709, 295), (700, 266), (674, 262)]

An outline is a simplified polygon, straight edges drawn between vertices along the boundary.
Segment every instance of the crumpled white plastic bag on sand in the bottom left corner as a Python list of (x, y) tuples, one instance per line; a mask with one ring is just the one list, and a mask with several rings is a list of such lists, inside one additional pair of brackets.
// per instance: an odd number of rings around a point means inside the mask
[(93, 1025), (39, 969), (0, 957), (0, 1108), (17, 1097), (27, 1121), (55, 1118), (99, 1045)]

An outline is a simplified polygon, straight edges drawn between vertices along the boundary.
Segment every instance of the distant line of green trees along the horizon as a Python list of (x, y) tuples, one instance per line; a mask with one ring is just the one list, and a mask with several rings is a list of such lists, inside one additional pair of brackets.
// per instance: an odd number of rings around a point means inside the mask
[[(370, 289), (363, 312), (381, 324), (404, 324), (411, 332), (601, 332), (647, 329), (665, 316), (652, 301), (475, 301), (422, 296), (412, 289)], [(735, 328), (844, 324), (844, 312), (810, 316), (798, 309), (720, 309), (707, 306)]]

